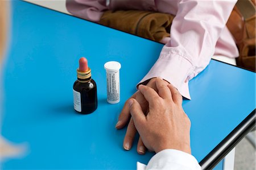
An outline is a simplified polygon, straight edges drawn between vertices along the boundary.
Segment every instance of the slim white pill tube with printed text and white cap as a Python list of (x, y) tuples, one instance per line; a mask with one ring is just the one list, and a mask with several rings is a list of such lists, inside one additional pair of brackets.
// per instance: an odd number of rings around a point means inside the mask
[(120, 78), (119, 69), (121, 64), (117, 61), (109, 61), (104, 64), (106, 69), (107, 101), (115, 104), (120, 101)]

